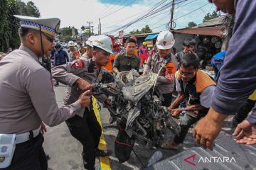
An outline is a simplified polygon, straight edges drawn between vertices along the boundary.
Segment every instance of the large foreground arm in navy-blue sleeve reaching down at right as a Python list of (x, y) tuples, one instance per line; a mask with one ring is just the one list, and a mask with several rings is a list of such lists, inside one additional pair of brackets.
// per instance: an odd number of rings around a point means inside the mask
[[(252, 64), (255, 63), (255, 58), (252, 56), (256, 52), (256, 42), (252, 38), (256, 36), (256, 24), (251, 19), (256, 17), (254, 12), (256, 1), (235, 2), (237, 22), (234, 26), (234, 33), (230, 39), (223, 67), (220, 70), (220, 78), (213, 96), (213, 103), (206, 118), (200, 120), (194, 130), (194, 133), (198, 134), (194, 135), (196, 140), (200, 140), (200, 143), (207, 147), (212, 146), (225, 117), (235, 114), (242, 103), (252, 94), (252, 91), (256, 89), (256, 64)], [(215, 119), (210, 115), (215, 115)], [(203, 128), (207, 124), (220, 127), (218, 129), (211, 128), (210, 130), (209, 128)]]

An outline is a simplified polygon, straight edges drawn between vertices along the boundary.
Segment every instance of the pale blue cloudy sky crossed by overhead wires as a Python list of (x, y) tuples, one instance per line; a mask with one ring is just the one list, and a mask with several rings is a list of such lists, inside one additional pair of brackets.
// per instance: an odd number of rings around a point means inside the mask
[[(166, 9), (159, 10), (154, 16), (149, 16), (142, 21), (137, 21), (124, 29), (124, 35), (131, 30), (141, 30), (146, 24), (158, 33), (166, 29), (166, 23), (171, 18), (172, 0), (21, 0), (24, 2), (33, 1), (41, 12), (42, 18), (60, 18), (60, 28), (74, 26), (80, 28), (89, 26), (92, 22), (94, 33), (98, 33), (99, 18), (102, 24), (102, 33), (118, 35), (118, 30), (130, 21), (136, 21), (138, 17), (144, 16), (156, 3), (166, 6)], [(175, 0), (174, 21), (176, 28), (186, 28), (188, 22), (201, 23), (208, 12), (215, 10), (213, 4), (208, 0)], [(151, 10), (149, 10), (151, 9)], [(79, 32), (79, 31), (78, 31)]]

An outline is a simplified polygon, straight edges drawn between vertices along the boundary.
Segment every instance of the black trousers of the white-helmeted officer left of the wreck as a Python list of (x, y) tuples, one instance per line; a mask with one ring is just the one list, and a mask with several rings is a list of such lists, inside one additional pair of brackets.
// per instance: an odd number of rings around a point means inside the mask
[[(92, 107), (91, 107), (92, 108)], [(94, 111), (85, 108), (83, 118), (75, 115), (66, 120), (70, 133), (82, 144), (82, 159), (85, 169), (95, 169), (95, 149), (100, 142), (102, 129)]]

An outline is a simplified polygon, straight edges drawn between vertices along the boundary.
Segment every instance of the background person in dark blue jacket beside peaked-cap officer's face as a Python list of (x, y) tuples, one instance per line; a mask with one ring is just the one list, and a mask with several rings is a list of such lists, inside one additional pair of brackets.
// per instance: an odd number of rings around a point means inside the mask
[[(60, 43), (56, 43), (55, 44), (55, 53), (54, 53), (54, 60), (53, 60), (53, 66), (58, 66), (58, 65), (62, 65), (62, 64), (66, 64), (67, 62), (69, 62), (69, 57), (67, 52), (65, 52)], [(55, 84), (54, 86), (58, 86), (58, 81), (55, 80)]]

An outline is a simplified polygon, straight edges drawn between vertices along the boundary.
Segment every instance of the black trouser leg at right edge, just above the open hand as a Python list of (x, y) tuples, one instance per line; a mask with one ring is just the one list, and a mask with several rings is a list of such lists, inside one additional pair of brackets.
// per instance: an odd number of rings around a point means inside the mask
[(252, 111), (252, 108), (255, 106), (256, 101), (252, 101), (250, 99), (247, 99), (245, 103), (242, 104), (242, 106), (238, 109), (237, 113), (235, 113), (235, 116), (232, 121), (232, 126), (235, 128), (239, 123), (242, 122), (242, 120), (245, 120), (247, 115)]

